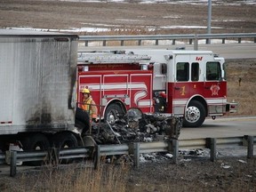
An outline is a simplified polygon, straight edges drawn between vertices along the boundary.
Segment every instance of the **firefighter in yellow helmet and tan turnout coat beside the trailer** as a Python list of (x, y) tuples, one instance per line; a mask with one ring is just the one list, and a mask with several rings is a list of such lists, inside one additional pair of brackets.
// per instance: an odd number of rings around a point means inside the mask
[(97, 116), (98, 116), (98, 109), (96, 107), (96, 104), (94, 100), (92, 100), (92, 96), (89, 89), (84, 89), (82, 91), (83, 93), (83, 105), (82, 108), (89, 113), (90, 116), (90, 122), (96, 122)]

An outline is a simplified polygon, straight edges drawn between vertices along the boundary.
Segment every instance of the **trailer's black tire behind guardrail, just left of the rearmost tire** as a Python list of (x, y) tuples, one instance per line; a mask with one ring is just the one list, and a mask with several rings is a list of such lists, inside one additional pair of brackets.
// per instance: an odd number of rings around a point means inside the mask
[[(48, 150), (50, 148), (50, 142), (47, 137), (42, 133), (29, 134), (24, 136), (20, 140), (23, 150)], [(28, 162), (31, 165), (44, 164), (43, 161)]]

